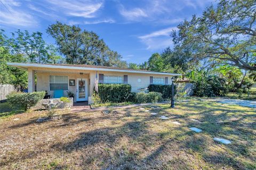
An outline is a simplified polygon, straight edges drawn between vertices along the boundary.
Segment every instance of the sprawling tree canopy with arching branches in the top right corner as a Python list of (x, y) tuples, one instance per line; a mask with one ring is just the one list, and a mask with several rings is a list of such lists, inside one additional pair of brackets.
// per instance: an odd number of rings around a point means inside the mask
[(189, 49), (195, 61), (256, 70), (255, 0), (221, 0), (178, 29), (171, 35), (174, 45)]

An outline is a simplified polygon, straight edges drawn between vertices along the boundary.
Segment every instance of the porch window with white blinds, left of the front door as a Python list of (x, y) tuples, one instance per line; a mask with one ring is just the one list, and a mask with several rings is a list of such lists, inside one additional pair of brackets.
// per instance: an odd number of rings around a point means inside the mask
[(68, 90), (68, 76), (50, 76), (50, 91)]

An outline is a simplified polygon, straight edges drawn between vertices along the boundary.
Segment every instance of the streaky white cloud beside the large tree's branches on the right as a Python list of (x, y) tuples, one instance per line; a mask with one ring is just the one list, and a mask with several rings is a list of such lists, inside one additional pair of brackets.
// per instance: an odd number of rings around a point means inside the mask
[(146, 44), (147, 50), (158, 50), (172, 45), (170, 37), (172, 30), (177, 30), (177, 27), (161, 29), (138, 38), (142, 43)]

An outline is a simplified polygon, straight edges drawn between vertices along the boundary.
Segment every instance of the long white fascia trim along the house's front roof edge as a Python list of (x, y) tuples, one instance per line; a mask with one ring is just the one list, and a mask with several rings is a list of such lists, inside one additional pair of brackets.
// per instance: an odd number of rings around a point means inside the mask
[(106, 68), (88, 68), (88, 67), (74, 67), (74, 66), (57, 66), (47, 64), (28, 64), (28, 63), (12, 63), (7, 62), (9, 66), (14, 67), (39, 67), (39, 68), (59, 68), (59, 69), (74, 69), (74, 70), (97, 70), (97, 71), (113, 71), (113, 72), (132, 72), (142, 74), (155, 74), (155, 75), (170, 75), (170, 76), (181, 76), (181, 74), (173, 74), (166, 72), (149, 72), (149, 71), (136, 71), (136, 70), (118, 70), (118, 69), (106, 69)]

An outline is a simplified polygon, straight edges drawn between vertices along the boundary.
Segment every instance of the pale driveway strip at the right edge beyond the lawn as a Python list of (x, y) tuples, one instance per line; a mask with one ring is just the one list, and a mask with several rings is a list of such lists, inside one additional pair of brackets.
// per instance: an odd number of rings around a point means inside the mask
[(223, 104), (237, 104), (239, 106), (256, 108), (256, 101), (253, 100), (240, 100), (240, 99), (215, 99), (219, 103)]

